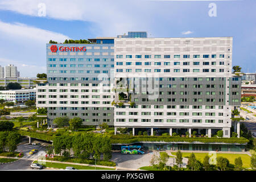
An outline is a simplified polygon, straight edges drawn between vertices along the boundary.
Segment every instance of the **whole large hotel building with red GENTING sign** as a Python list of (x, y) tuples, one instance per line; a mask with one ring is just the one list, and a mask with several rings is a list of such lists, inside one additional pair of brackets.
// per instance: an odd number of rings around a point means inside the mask
[[(230, 137), (232, 109), (241, 105), (241, 77), (232, 75), (232, 37), (147, 38), (129, 32), (89, 44), (47, 44), (47, 81), (36, 106), (56, 117), (80, 117), (170, 133)], [(240, 123), (237, 133), (240, 131)]]

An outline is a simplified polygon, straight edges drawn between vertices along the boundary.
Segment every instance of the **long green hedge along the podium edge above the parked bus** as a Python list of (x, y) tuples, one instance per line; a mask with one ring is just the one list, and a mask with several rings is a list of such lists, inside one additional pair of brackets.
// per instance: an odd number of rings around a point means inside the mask
[(111, 143), (134, 143), (134, 142), (203, 142), (203, 143), (240, 143), (249, 142), (246, 138), (185, 138), (185, 137), (150, 137), (150, 136), (129, 136), (115, 135), (110, 137)]

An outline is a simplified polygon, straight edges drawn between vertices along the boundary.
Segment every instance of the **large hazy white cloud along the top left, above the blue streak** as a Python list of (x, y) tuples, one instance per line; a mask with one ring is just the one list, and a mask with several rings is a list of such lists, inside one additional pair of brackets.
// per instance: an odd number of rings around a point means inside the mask
[[(97, 34), (100, 33), (101, 36), (116, 36), (127, 31), (150, 30), (150, 27), (154, 27), (151, 23), (154, 14), (164, 17), (164, 9), (167, 10), (167, 7), (162, 7), (161, 11), (156, 11), (152, 3), (138, 0), (0, 0), (0, 10), (38, 16), (39, 3), (46, 5), (46, 18), (93, 22), (98, 27), (89, 28), (96, 29)], [(169, 15), (170, 12), (172, 13), (168, 9)]]

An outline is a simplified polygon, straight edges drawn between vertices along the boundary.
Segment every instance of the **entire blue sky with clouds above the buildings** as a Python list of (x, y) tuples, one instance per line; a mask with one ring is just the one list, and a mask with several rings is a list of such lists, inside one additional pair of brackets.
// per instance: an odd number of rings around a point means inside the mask
[(255, 0), (0, 0), (0, 65), (36, 77), (46, 73), (49, 40), (147, 31), (156, 38), (233, 36), (233, 65), (254, 73), (255, 11)]

